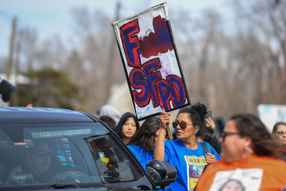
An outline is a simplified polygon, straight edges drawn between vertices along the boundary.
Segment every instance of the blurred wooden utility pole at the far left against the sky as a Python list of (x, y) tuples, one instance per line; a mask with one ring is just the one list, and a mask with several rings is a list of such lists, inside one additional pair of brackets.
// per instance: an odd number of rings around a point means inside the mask
[(17, 18), (14, 17), (12, 20), (12, 31), (11, 31), (11, 38), (10, 38), (10, 48), (9, 48), (9, 58), (7, 63), (7, 81), (9, 81), (9, 78), (12, 73), (12, 63), (13, 63), (13, 50), (14, 50), (14, 41), (15, 41), (15, 34), (16, 34), (16, 22)]

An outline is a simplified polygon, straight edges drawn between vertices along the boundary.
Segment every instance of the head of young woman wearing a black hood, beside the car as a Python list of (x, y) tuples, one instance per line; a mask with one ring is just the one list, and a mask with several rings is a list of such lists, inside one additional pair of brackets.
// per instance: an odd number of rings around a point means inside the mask
[(139, 123), (133, 113), (124, 113), (116, 127), (115, 133), (122, 139), (125, 144), (128, 144), (131, 137), (135, 135), (139, 129)]

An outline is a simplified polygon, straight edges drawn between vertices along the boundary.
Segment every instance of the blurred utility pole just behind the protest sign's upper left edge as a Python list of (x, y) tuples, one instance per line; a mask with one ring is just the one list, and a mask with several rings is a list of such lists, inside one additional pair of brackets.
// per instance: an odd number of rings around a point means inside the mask
[[(116, 4), (116, 10), (115, 10), (115, 21), (119, 19), (119, 10), (120, 10), (121, 4), (118, 1)], [(116, 44), (116, 38), (114, 35), (114, 32), (112, 33), (113, 38), (110, 43), (110, 50), (109, 50), (109, 60), (108, 65), (106, 67), (105, 76), (107, 78), (106, 80), (106, 86), (105, 86), (105, 94), (104, 94), (104, 104), (107, 104), (108, 98), (110, 97), (110, 90), (113, 82), (113, 61), (114, 61), (114, 45)]]

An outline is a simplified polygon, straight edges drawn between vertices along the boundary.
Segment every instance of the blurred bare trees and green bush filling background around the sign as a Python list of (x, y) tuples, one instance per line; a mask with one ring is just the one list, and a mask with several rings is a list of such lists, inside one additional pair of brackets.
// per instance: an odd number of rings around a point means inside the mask
[[(203, 101), (215, 117), (256, 113), (262, 103), (286, 104), (286, 1), (228, 2), (231, 18), (215, 9), (194, 18), (189, 10), (173, 14), (168, 7), (190, 100)], [(120, 6), (117, 13), (121, 18)], [(40, 41), (35, 28), (16, 29), (12, 74), (28, 81), (18, 82), (13, 106), (32, 103), (96, 113), (103, 104), (121, 101), (122, 113), (134, 112), (110, 25), (117, 19), (85, 7), (75, 7), (71, 17), (71, 45), (57, 35)], [(8, 58), (0, 58), (0, 73), (6, 73)], [(129, 96), (114, 101), (126, 95), (120, 89)]]

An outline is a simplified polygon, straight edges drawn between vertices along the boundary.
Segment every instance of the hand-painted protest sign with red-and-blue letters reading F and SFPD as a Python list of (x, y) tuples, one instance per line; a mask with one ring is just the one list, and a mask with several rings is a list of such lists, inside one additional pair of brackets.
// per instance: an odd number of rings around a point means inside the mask
[(112, 25), (138, 121), (189, 105), (167, 4)]

